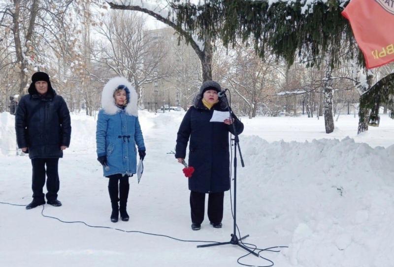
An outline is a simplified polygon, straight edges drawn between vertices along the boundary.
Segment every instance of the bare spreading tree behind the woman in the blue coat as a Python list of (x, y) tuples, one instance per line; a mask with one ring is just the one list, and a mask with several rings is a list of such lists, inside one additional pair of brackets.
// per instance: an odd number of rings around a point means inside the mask
[[(158, 64), (164, 49), (144, 32), (145, 19), (132, 12), (114, 10), (101, 21), (92, 60), (131, 80), (141, 96), (141, 85), (160, 78)], [(166, 75), (166, 74), (163, 74)]]

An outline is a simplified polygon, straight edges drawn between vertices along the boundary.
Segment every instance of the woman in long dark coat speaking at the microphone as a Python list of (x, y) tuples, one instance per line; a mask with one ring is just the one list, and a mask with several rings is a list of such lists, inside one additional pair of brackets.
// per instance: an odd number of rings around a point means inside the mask
[(222, 227), (224, 192), (230, 189), (229, 132), (237, 134), (243, 124), (235, 117), (222, 122), (209, 122), (213, 111), (229, 111), (227, 103), (218, 98), (221, 87), (217, 82), (207, 81), (193, 106), (186, 112), (176, 139), (175, 158), (184, 161), (189, 144), (189, 166), (195, 168), (189, 178), (192, 229), (199, 230), (204, 220), (205, 194), (208, 198), (208, 218), (215, 228)]

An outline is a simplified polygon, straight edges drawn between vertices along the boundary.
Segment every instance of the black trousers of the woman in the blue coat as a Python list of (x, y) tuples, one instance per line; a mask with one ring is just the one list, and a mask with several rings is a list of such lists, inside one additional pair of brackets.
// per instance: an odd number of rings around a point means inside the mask
[[(107, 176), (109, 197), (113, 204), (120, 204), (120, 208), (126, 209), (127, 199), (129, 197), (129, 176), (122, 176), (122, 174), (113, 174)], [(119, 197), (118, 197), (119, 195)]]

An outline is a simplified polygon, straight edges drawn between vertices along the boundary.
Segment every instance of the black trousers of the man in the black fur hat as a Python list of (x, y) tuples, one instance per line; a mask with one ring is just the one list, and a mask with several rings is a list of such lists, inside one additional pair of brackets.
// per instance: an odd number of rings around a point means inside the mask
[[(32, 159), (33, 166), (33, 199), (44, 200), (44, 193), (42, 188), (45, 184), (45, 173), (47, 176), (46, 180), (46, 193), (47, 200), (56, 200), (59, 192), (59, 173), (58, 173), (59, 158), (54, 159)], [(46, 169), (45, 169), (46, 165)]]

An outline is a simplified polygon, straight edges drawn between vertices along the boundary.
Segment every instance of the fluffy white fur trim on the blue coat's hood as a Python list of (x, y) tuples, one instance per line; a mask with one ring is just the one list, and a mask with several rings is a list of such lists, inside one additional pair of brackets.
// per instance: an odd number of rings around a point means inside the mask
[(134, 86), (125, 77), (114, 77), (110, 79), (102, 89), (101, 93), (101, 107), (108, 115), (115, 115), (119, 112), (119, 108), (115, 105), (115, 99), (113, 94), (119, 85), (125, 85), (130, 90), (130, 99), (125, 108), (128, 115), (138, 117), (137, 109), (137, 93), (135, 92)]

